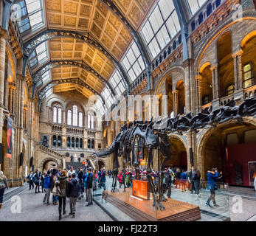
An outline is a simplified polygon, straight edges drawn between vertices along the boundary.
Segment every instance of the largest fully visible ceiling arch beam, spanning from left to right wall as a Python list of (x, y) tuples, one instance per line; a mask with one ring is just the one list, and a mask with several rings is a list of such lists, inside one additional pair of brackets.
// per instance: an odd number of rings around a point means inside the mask
[(114, 66), (116, 66), (116, 68), (120, 70), (122, 79), (125, 81), (126, 90), (128, 91), (128, 93), (130, 92), (129, 89), (130, 89), (131, 83), (128, 80), (127, 74), (124, 72), (122, 65), (99, 42), (89, 38), (89, 34), (82, 35), (75, 31), (44, 30), (43, 32), (38, 33), (38, 35), (35, 35), (32, 39), (30, 39), (30, 41), (27, 41), (26, 43), (24, 43), (22, 74), (25, 74), (28, 60), (30, 58), (30, 55), (32, 55), (32, 53), (35, 51), (35, 49), (39, 45), (53, 38), (74, 38), (76, 40), (84, 41), (86, 44), (89, 44), (90, 46), (93, 46), (95, 49), (102, 52), (103, 55), (105, 55), (109, 60), (111, 60)]

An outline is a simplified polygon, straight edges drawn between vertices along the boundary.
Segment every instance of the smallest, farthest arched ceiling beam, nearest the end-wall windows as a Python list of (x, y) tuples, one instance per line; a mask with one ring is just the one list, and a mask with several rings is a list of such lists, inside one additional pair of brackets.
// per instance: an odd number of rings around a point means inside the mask
[(44, 86), (43, 89), (40, 89), (38, 91), (38, 98), (39, 100), (44, 100), (45, 94), (49, 89), (52, 89), (55, 86), (58, 86), (60, 84), (65, 84), (65, 83), (72, 83), (77, 86), (83, 86), (83, 88), (89, 89), (93, 94), (97, 94), (98, 96), (101, 97), (103, 100), (103, 103), (105, 104), (104, 98), (99, 94), (97, 91), (91, 88), (87, 83), (85, 83), (83, 80), (80, 78), (71, 78), (71, 79), (60, 79), (60, 80), (52, 80), (51, 82), (47, 83), (46, 86)]

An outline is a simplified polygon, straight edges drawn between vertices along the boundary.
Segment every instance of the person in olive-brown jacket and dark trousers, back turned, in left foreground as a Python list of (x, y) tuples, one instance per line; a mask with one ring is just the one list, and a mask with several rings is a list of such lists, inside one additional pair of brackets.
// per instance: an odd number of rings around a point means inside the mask
[(56, 186), (56, 196), (58, 196), (59, 201), (59, 221), (62, 218), (61, 210), (63, 210), (63, 215), (66, 214), (66, 191), (69, 184), (69, 178), (67, 177), (66, 170), (60, 171), (60, 176), (55, 180)]

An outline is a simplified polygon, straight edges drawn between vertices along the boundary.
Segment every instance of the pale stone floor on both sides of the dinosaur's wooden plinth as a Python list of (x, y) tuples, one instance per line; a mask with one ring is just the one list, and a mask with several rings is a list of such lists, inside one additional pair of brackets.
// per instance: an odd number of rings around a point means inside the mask
[[(111, 190), (111, 178), (107, 178), (106, 187)], [(225, 217), (230, 217), (231, 221), (256, 221), (256, 198), (253, 196), (254, 191), (246, 189), (232, 189), (231, 194), (229, 191), (219, 191), (216, 195), (217, 204), (219, 207), (209, 207), (205, 205), (205, 201), (209, 196), (209, 192), (201, 190), (201, 198), (197, 198), (197, 195), (191, 195), (190, 192), (181, 192), (172, 189), (171, 197), (179, 201), (185, 201), (190, 204), (196, 204), (203, 211), (201, 213), (201, 221), (221, 221)], [(21, 192), (20, 192), (21, 191)], [(34, 190), (28, 190), (28, 187), (23, 187), (18, 191), (18, 188), (7, 190), (6, 200), (3, 208), (1, 209), (0, 221), (58, 221), (58, 206), (43, 205), (42, 201), (44, 194), (35, 194)], [(94, 192), (95, 202), (92, 206), (86, 207), (86, 201), (77, 201), (77, 215), (75, 219), (72, 219), (69, 215), (63, 217), (62, 221), (113, 221), (112, 218), (105, 213), (108, 212), (112, 217), (117, 218), (119, 221), (134, 221), (129, 218), (124, 212), (121, 212), (117, 207), (111, 205), (107, 201), (101, 198), (103, 189), (97, 188), (97, 192)], [(122, 190), (121, 190), (122, 191)], [(21, 200), (21, 213), (13, 213), (12, 209), (15, 206), (15, 202), (11, 201), (11, 198), (17, 195)], [(238, 193), (242, 193), (239, 195)], [(249, 194), (246, 194), (249, 192)], [(243, 196), (244, 195), (244, 196)], [(236, 197), (242, 196), (242, 212), (235, 212), (237, 209), (235, 204)], [(235, 198), (234, 198), (235, 197)], [(97, 206), (97, 204), (100, 206)], [(52, 196), (50, 198), (52, 203)], [(66, 209), (69, 213), (69, 200), (66, 202)], [(217, 216), (216, 216), (217, 215)]]

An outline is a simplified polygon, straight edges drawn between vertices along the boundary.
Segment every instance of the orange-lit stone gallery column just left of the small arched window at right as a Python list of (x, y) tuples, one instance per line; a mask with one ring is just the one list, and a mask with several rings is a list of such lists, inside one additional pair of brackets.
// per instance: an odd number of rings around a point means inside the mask
[(242, 55), (243, 55), (242, 49), (238, 52), (235, 52), (232, 55), (234, 60), (235, 90), (243, 89)]

